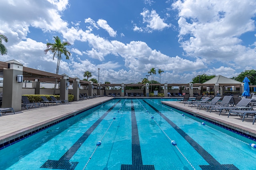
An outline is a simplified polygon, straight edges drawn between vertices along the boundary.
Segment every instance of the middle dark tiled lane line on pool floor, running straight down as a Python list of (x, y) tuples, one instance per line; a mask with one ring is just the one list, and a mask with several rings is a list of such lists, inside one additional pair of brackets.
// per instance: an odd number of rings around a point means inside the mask
[(132, 114), (132, 165), (121, 165), (121, 170), (155, 170), (154, 165), (143, 165), (140, 150), (140, 139), (133, 102), (131, 101)]

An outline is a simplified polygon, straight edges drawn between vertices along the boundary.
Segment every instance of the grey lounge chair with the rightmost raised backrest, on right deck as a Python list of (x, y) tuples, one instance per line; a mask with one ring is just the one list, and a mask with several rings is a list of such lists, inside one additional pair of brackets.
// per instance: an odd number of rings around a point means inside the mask
[[(217, 110), (220, 111), (220, 113), (222, 112), (222, 110), (226, 110), (226, 112), (230, 111), (230, 110), (235, 110), (235, 109), (237, 109), (237, 110), (239, 110), (239, 109), (249, 109), (250, 110), (250, 109), (252, 109), (252, 107), (249, 106), (251, 101), (252, 101), (252, 99), (242, 98), (240, 100), (240, 102), (238, 102), (238, 104), (236, 104), (236, 107), (230, 107), (230, 106), (228, 106), (228, 107), (216, 107), (216, 109), (214, 107), (214, 109), (216, 111)], [(219, 113), (219, 115), (220, 115), (220, 113)]]

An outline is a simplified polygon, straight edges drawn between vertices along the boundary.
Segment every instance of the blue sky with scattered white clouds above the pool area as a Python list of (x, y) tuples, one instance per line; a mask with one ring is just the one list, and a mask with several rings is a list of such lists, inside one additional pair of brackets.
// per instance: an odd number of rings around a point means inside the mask
[(82, 80), (89, 71), (102, 84), (141, 82), (151, 68), (149, 80), (168, 84), (256, 70), (255, 0), (1, 0), (0, 6), (0, 33), (9, 40), (0, 61), (56, 73), (56, 57), (44, 50), (59, 36), (71, 44), (59, 74)]

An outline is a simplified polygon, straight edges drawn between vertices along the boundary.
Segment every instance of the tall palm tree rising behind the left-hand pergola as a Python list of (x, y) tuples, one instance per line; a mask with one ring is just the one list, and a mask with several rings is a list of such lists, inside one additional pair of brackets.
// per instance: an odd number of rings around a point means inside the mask
[[(58, 36), (54, 37), (54, 41), (55, 41), (55, 43), (47, 43), (46, 44), (46, 49), (44, 50), (44, 53), (47, 54), (48, 51), (52, 52), (53, 60), (54, 60), (54, 57), (57, 55), (58, 62), (57, 62), (56, 74), (58, 74), (59, 67), (60, 67), (61, 55), (64, 54), (64, 56), (66, 57), (66, 60), (68, 60), (69, 56), (71, 55), (71, 53), (66, 49), (66, 46), (70, 45), (70, 43), (68, 41), (61, 42), (60, 37), (58, 37)], [(56, 79), (53, 94), (55, 94), (55, 91), (56, 91), (57, 81), (58, 80)]]

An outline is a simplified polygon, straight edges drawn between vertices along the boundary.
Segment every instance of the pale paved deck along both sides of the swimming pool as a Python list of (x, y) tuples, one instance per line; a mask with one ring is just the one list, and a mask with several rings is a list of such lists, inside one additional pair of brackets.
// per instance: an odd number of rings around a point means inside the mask
[[(133, 97), (131, 97), (133, 98)], [(70, 102), (70, 104), (59, 104), (35, 109), (22, 109), (20, 112), (6, 113), (0, 117), (0, 149), (6, 144), (16, 143), (32, 133), (45, 129), (64, 119), (75, 116), (81, 111), (98, 106), (112, 100), (113, 97), (99, 97), (90, 100)], [(166, 105), (186, 111), (196, 117), (203, 117), (220, 125), (236, 129), (244, 134), (256, 137), (256, 124), (252, 125), (252, 118), (246, 118), (244, 122), (240, 117), (231, 116), (228, 113), (218, 115), (216, 112), (209, 113), (206, 110), (195, 107), (184, 106), (179, 102), (162, 102)]]

